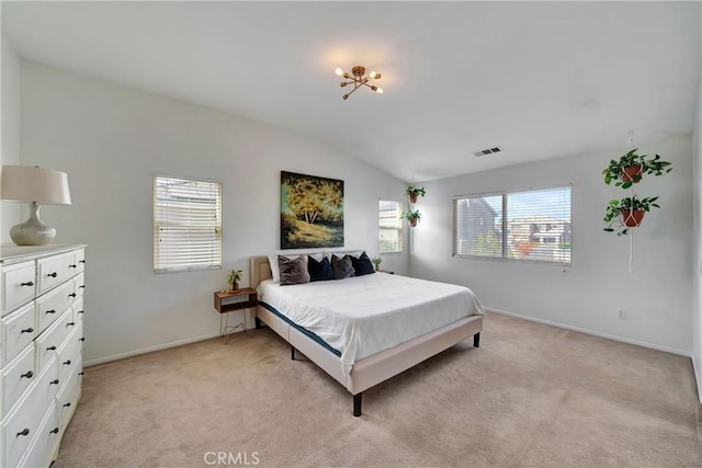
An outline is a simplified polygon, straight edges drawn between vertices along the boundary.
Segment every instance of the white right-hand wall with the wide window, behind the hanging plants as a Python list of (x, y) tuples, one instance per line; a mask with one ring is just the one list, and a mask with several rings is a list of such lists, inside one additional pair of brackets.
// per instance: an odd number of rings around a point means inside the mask
[[(411, 274), (466, 285), (489, 308), (690, 355), (692, 139), (641, 146), (675, 169), (636, 189), (641, 196), (659, 195), (663, 208), (647, 214), (635, 231), (632, 274), (629, 238), (602, 231), (608, 201), (625, 192), (605, 185), (601, 171), (624, 149), (426, 183)], [(454, 195), (567, 183), (573, 183), (573, 267), (452, 258)], [(620, 308), (625, 320), (616, 317)]]

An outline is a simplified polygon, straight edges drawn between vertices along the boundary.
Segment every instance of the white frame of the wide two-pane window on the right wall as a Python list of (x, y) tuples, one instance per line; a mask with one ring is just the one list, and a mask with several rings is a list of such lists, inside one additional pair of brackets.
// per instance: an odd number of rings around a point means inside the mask
[[(507, 232), (508, 232), (508, 204), (507, 198), (511, 194), (525, 193), (525, 192), (542, 192), (548, 190), (559, 190), (559, 189), (569, 189), (570, 197), (569, 197), (569, 212), (570, 212), (570, 249), (569, 249), (569, 260), (567, 262), (553, 262), (548, 260), (537, 260), (537, 259), (516, 259), (508, 256), (508, 241), (507, 241)], [(501, 196), (502, 197), (502, 215), (500, 229), (502, 232), (501, 241), (501, 256), (487, 256), (487, 255), (468, 255), (468, 254), (460, 254), (456, 253), (457, 250), (457, 202), (460, 199), (466, 198), (483, 198), (488, 196)], [(483, 193), (473, 193), (466, 195), (455, 195), (452, 197), (452, 214), (453, 214), (453, 232), (452, 232), (452, 252), (451, 256), (456, 259), (467, 259), (467, 260), (489, 260), (497, 262), (511, 262), (511, 263), (529, 263), (529, 264), (537, 264), (537, 265), (551, 265), (551, 266), (559, 266), (559, 267), (571, 267), (573, 266), (573, 183), (558, 184), (558, 185), (550, 185), (543, 187), (529, 187), (529, 189), (516, 189), (516, 190), (506, 190), (506, 191), (495, 191), (495, 192), (483, 192)]]

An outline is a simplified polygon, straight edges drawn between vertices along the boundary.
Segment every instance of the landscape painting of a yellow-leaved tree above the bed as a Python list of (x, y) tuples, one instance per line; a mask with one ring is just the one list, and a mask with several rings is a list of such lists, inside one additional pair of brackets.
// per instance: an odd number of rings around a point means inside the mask
[(343, 181), (281, 171), (281, 249), (343, 247)]

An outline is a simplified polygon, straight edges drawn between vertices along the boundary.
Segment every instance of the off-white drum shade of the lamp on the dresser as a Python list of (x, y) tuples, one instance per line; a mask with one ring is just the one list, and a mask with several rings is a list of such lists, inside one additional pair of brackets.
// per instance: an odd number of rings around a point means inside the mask
[(43, 205), (70, 205), (68, 175), (31, 165), (3, 165), (0, 198), (36, 202)]

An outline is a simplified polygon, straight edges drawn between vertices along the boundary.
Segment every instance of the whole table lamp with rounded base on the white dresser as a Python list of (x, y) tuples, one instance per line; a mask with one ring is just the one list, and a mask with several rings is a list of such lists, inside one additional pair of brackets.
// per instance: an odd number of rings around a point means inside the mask
[(30, 204), (30, 219), (10, 229), (14, 243), (47, 244), (56, 237), (56, 229), (39, 219), (39, 205), (70, 205), (68, 175), (38, 165), (3, 165), (0, 198)]

